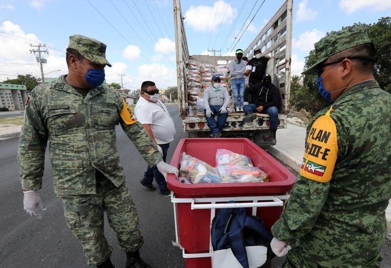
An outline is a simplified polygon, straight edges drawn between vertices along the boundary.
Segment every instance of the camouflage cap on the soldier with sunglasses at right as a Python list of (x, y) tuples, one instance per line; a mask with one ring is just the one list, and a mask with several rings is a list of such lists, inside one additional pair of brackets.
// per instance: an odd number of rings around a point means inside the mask
[(364, 26), (350, 26), (339, 32), (332, 32), (315, 43), (316, 63), (302, 74), (309, 75), (316, 72), (316, 65), (328, 57), (361, 44), (371, 43)]

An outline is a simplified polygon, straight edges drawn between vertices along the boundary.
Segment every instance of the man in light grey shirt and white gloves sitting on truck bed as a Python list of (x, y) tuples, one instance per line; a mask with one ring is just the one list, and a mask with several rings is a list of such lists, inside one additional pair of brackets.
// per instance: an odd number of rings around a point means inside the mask
[[(221, 79), (217, 75), (212, 77), (212, 85), (204, 91), (205, 117), (211, 130), (211, 137), (221, 137), (221, 132), (228, 118), (227, 106), (231, 96), (226, 88), (220, 85)], [(217, 122), (215, 119), (217, 115)]]

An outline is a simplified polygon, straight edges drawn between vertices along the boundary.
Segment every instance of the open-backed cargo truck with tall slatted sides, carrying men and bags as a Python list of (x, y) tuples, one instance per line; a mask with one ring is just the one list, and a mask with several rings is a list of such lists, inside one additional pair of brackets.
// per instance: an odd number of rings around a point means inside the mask
[[(292, 4), (293, 0), (283, 2), (243, 54), (250, 59), (254, 56), (254, 49), (259, 47), (262, 55), (268, 54), (270, 56), (265, 73), (271, 75), (273, 84), (280, 90), (282, 96), (282, 113), (279, 114), (278, 121), (279, 129), (286, 128), (289, 111)], [(178, 108), (179, 116), (183, 122), (183, 130), (188, 133), (188, 137), (209, 137), (209, 128), (203, 113), (190, 114), (188, 111), (186, 62), (194, 60), (214, 66), (228, 65), (235, 57), (190, 55), (180, 0), (174, 0), (174, 27)], [(269, 115), (259, 113), (256, 115), (257, 118), (254, 121), (245, 123), (242, 121), (245, 116), (243, 112), (229, 113), (222, 137), (246, 137), (259, 146), (271, 145), (270, 139), (268, 139), (270, 133)]]

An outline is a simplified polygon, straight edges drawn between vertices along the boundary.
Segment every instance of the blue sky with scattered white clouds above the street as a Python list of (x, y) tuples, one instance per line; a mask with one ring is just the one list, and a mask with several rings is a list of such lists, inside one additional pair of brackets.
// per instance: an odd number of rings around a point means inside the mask
[[(208, 48), (227, 53), (239, 29), (243, 24), (244, 28), (248, 25), (262, 1), (182, 0), (190, 54), (205, 54)], [(0, 81), (18, 73), (40, 76), (35, 58), (29, 52), (30, 42), (50, 46), (50, 54), (45, 56), (48, 63), (44, 65), (44, 73), (61, 71), (47, 77), (66, 73), (61, 51), (65, 51), (70, 35), (82, 34), (108, 45), (107, 58), (113, 64), (112, 68), (106, 68), (108, 82), (119, 82), (118, 74), (125, 74), (124, 87), (130, 89), (139, 88), (147, 79), (155, 81), (160, 88), (176, 85), (172, 0), (89, 2), (0, 0)], [(238, 16), (243, 2), (243, 11)], [(236, 48), (245, 49), (283, 2), (265, 0)], [(254, 5), (254, 11), (246, 20)], [(304, 57), (314, 42), (326, 32), (354, 22), (373, 23), (381, 17), (391, 16), (391, 1), (295, 0), (293, 12), (292, 72), (297, 74), (302, 71)], [(232, 34), (228, 35), (236, 20)]]

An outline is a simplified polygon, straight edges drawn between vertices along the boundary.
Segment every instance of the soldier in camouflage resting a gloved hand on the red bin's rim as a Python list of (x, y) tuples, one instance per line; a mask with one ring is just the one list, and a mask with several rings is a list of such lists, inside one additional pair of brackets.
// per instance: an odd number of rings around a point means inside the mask
[(102, 86), (106, 45), (81, 35), (69, 37), (68, 75), (37, 86), (26, 106), (18, 164), (24, 209), (37, 217), (44, 210), (41, 189), (44, 154), (50, 141), (54, 189), (64, 205), (68, 227), (80, 240), (89, 265), (113, 267), (112, 248), (104, 236), (104, 211), (127, 252), (126, 267), (147, 268), (139, 255), (143, 244), (138, 216), (119, 161), (115, 126), (121, 124), (150, 166), (165, 173), (177, 169), (164, 163), (155, 144), (137, 122), (125, 100)]

